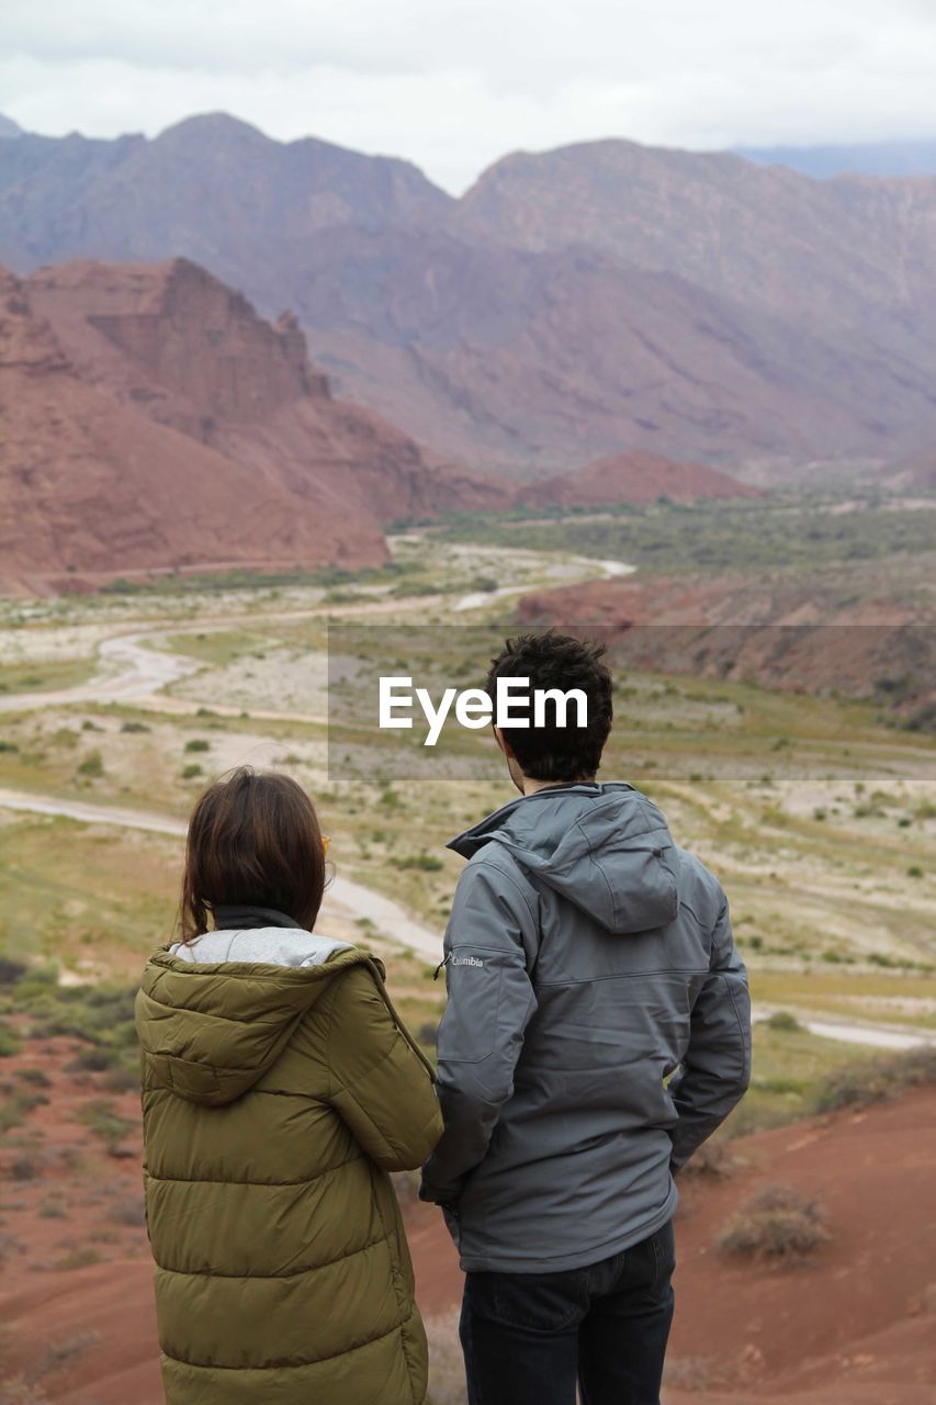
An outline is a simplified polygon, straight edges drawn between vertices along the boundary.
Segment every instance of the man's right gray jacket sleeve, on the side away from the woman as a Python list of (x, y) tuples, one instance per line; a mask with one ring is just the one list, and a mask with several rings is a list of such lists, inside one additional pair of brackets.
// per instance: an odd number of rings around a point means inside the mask
[(689, 1047), (669, 1093), (679, 1114), (670, 1137), (673, 1172), (725, 1120), (750, 1082), (748, 972), (731, 934), (728, 901), (713, 932), (711, 965), (691, 1013)]

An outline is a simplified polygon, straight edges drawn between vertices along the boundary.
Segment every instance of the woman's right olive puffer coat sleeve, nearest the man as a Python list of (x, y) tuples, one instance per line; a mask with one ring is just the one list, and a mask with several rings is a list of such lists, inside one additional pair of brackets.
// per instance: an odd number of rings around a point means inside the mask
[(336, 982), (329, 1102), (384, 1170), (415, 1170), (441, 1135), (431, 1066), (396, 1017), (375, 971)]

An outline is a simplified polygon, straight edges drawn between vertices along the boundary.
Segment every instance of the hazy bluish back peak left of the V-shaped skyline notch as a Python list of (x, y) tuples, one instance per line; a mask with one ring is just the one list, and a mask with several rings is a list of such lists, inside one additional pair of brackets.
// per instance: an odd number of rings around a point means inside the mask
[(256, 295), (257, 270), (294, 264), (319, 229), (379, 228), (448, 204), (409, 162), (312, 138), (284, 145), (221, 112), (153, 140), (24, 133), (0, 162), (0, 261), (25, 271), (181, 254)]

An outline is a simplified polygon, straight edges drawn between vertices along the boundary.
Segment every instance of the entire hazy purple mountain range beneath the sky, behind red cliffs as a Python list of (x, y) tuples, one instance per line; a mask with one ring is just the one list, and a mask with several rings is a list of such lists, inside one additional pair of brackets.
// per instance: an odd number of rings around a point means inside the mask
[(184, 256), (292, 308), (337, 393), (517, 478), (936, 443), (936, 178), (609, 140), (507, 156), (455, 201), (223, 115), (0, 143), (0, 259), (87, 254)]

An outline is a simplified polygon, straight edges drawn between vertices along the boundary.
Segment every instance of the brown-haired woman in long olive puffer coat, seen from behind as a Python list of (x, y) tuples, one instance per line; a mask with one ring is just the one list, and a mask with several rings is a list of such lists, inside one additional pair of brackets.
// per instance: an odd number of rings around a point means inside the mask
[(218, 781), (188, 828), (183, 940), (143, 972), (143, 1179), (169, 1405), (426, 1395), (386, 1173), (422, 1165), (441, 1118), (381, 964), (312, 933), (325, 844), (287, 777)]

